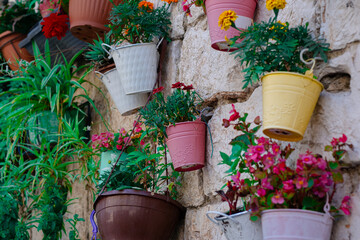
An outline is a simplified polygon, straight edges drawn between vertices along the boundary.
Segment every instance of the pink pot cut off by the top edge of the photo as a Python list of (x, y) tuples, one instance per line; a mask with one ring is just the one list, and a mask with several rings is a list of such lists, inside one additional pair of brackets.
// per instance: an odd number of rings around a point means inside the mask
[[(235, 21), (239, 29), (246, 29), (252, 24), (257, 0), (206, 0), (206, 14), (208, 18), (211, 47), (220, 51), (233, 51), (225, 41), (239, 35), (239, 31), (230, 27), (229, 30), (221, 30), (218, 25), (219, 16), (227, 10), (233, 10), (238, 18)], [(239, 41), (240, 42), (240, 41)]]

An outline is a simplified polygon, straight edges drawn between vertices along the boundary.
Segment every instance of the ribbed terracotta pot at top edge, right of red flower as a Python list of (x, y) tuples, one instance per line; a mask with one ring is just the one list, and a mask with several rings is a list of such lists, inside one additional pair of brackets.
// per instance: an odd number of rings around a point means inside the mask
[[(114, 0), (117, 5), (121, 0)], [(70, 0), (69, 18), (71, 33), (85, 42), (97, 39), (97, 34), (103, 36), (109, 29), (108, 18), (112, 9), (109, 0)]]

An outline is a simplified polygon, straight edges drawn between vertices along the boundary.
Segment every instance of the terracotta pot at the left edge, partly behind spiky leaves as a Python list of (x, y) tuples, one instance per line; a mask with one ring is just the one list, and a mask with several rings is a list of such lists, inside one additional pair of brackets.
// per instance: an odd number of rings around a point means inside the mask
[(0, 50), (11, 70), (16, 71), (19, 69), (17, 61), (20, 59), (28, 62), (32, 61), (33, 56), (25, 49), (19, 47), (19, 42), (26, 36), (20, 33), (13, 33), (10, 31), (3, 32), (0, 34)]

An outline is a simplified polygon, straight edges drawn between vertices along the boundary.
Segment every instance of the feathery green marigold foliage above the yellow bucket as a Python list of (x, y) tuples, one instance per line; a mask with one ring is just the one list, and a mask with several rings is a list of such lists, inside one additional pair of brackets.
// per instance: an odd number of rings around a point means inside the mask
[[(235, 27), (235, 24), (232, 24)], [(290, 27), (289, 23), (277, 22), (271, 18), (268, 22), (254, 23), (246, 30), (233, 37), (232, 53), (245, 64), (244, 88), (259, 81), (262, 75), (272, 71), (290, 71), (304, 74), (308, 67), (300, 60), (301, 50), (308, 48), (307, 58), (320, 56), (327, 61), (326, 52), (329, 44), (323, 39), (315, 39), (308, 28), (308, 23)], [(242, 39), (241, 43), (236, 43)]]

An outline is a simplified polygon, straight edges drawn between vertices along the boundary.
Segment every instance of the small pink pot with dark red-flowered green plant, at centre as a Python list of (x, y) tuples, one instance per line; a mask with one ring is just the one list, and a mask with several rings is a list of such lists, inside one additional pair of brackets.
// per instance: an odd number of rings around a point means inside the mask
[(193, 171), (205, 165), (206, 124), (200, 120), (201, 97), (177, 82), (164, 97), (164, 88), (154, 90), (153, 99), (139, 110), (149, 131), (161, 145), (167, 145), (176, 171)]

